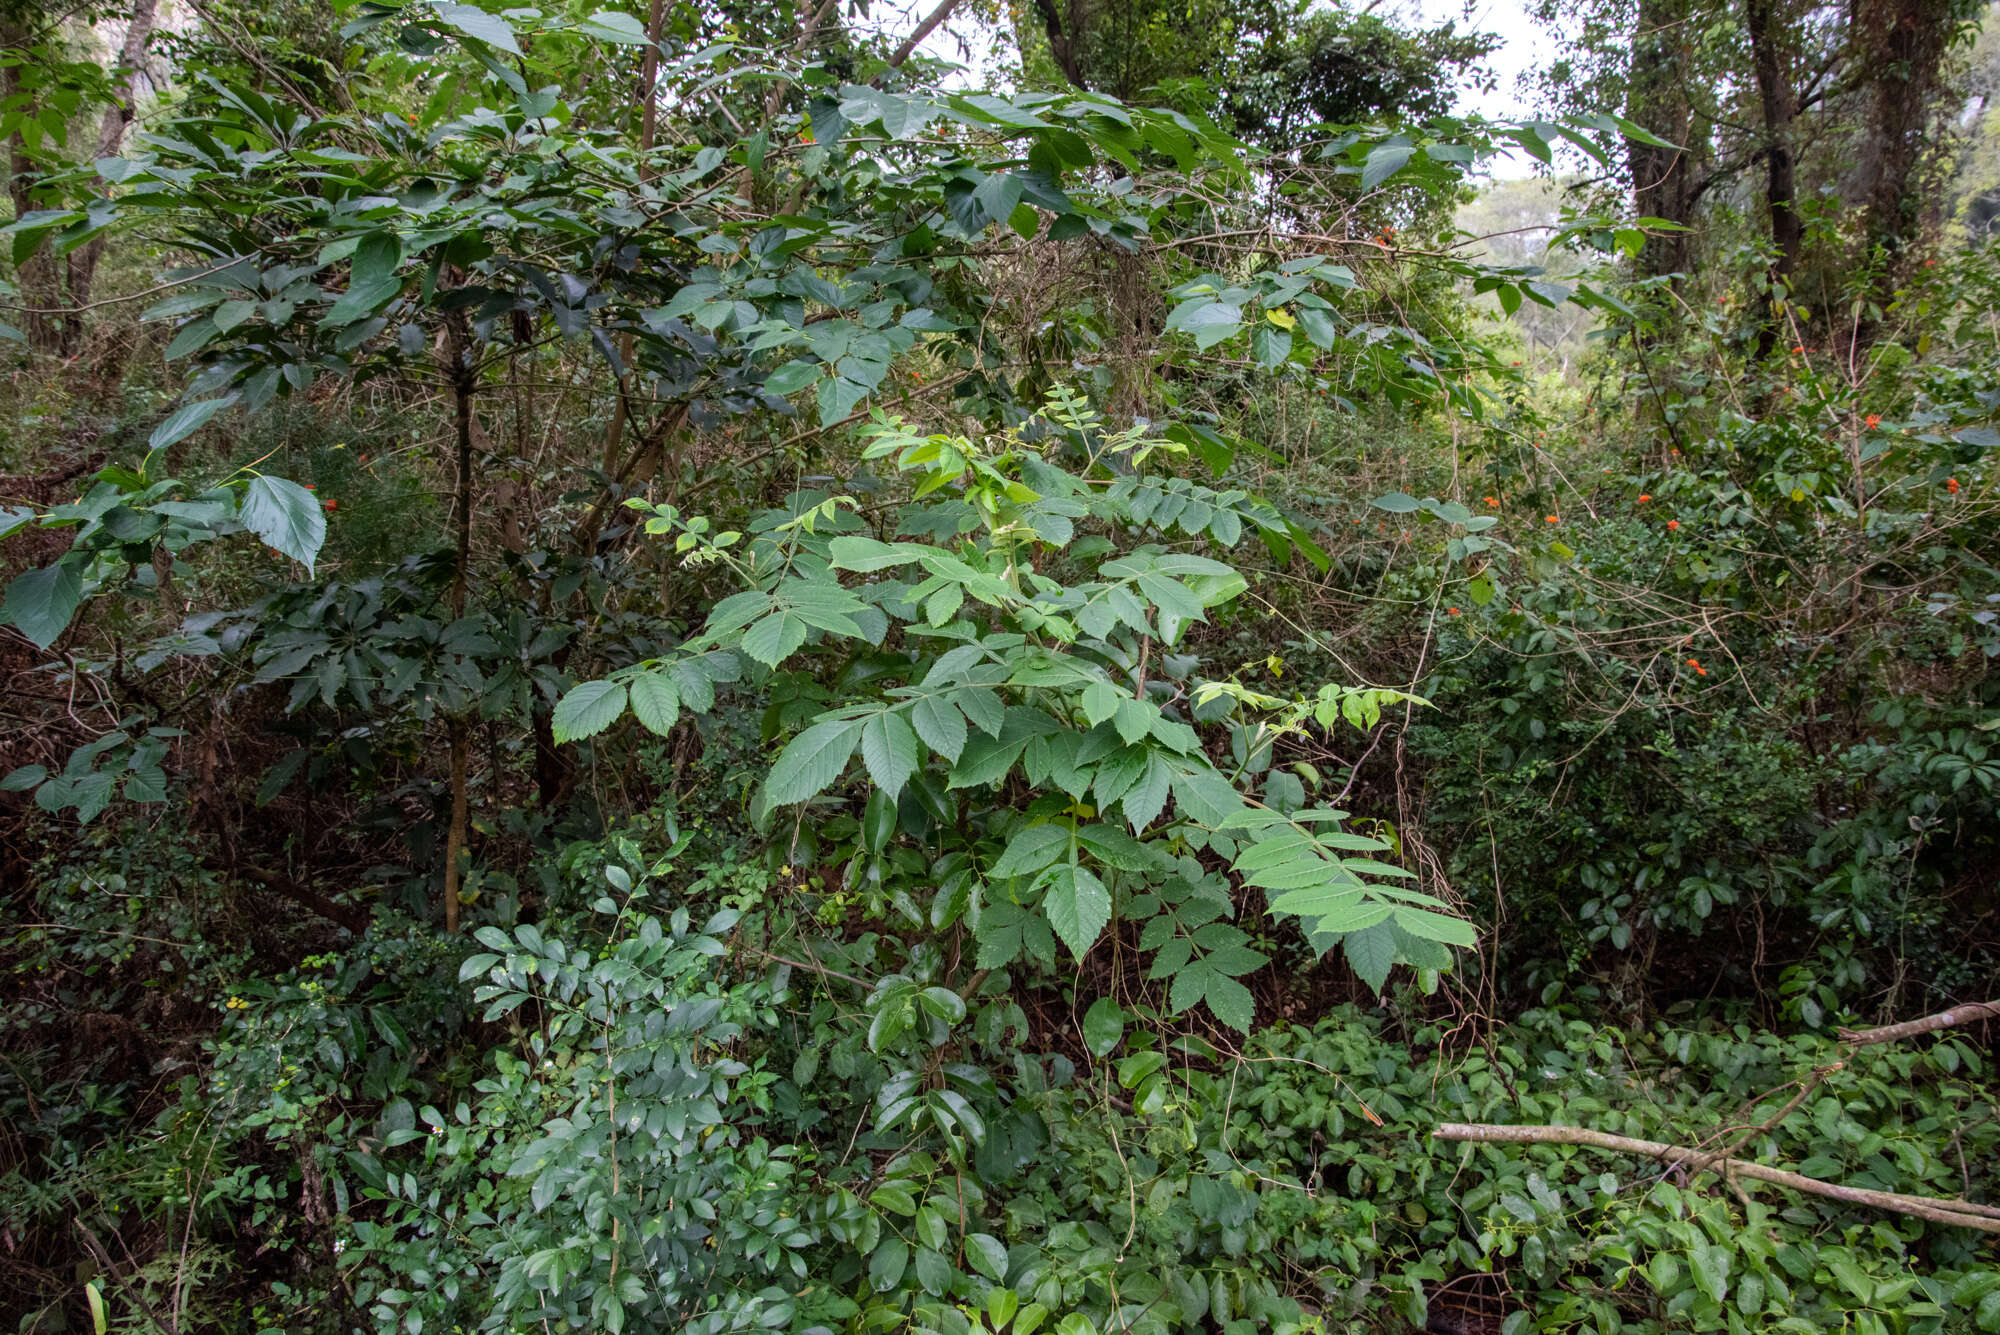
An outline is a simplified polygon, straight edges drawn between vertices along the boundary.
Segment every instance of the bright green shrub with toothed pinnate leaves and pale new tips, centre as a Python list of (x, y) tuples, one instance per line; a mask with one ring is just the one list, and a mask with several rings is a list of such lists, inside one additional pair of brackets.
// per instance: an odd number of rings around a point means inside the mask
[[(630, 502), (684, 560), (726, 566), (742, 592), (664, 658), (584, 681), (556, 707), (580, 739), (630, 711), (668, 733), (750, 679), (788, 733), (756, 799), (782, 847), (860, 807), (850, 879), (918, 849), (890, 917), (970, 933), (982, 971), (1082, 959), (1118, 923), (1136, 929), (1168, 1003), (1204, 1003), (1250, 1029), (1240, 981), (1266, 963), (1232, 921), (1238, 887), (1264, 893), (1310, 943), (1340, 945), (1380, 987), (1396, 963), (1438, 971), (1472, 927), (1378, 857), (1386, 843), (1308, 805), (1270, 765), (1288, 729), (1368, 725), (1388, 689), (1322, 687), (1282, 701), (1198, 675), (1188, 632), (1248, 594), (1228, 550), (1288, 526), (1244, 492), (1148, 474), (1172, 454), (1146, 428), (1108, 432), (1058, 392), (1020, 428), (924, 436), (876, 414), (864, 460), (904, 480), (866, 516), (808, 494), (748, 532)], [(1068, 468), (1064, 464), (1070, 464)], [(1152, 542), (1124, 544), (1124, 536)], [(1168, 542), (1168, 540), (1174, 542)], [(1228, 761), (1218, 761), (1228, 755)]]

